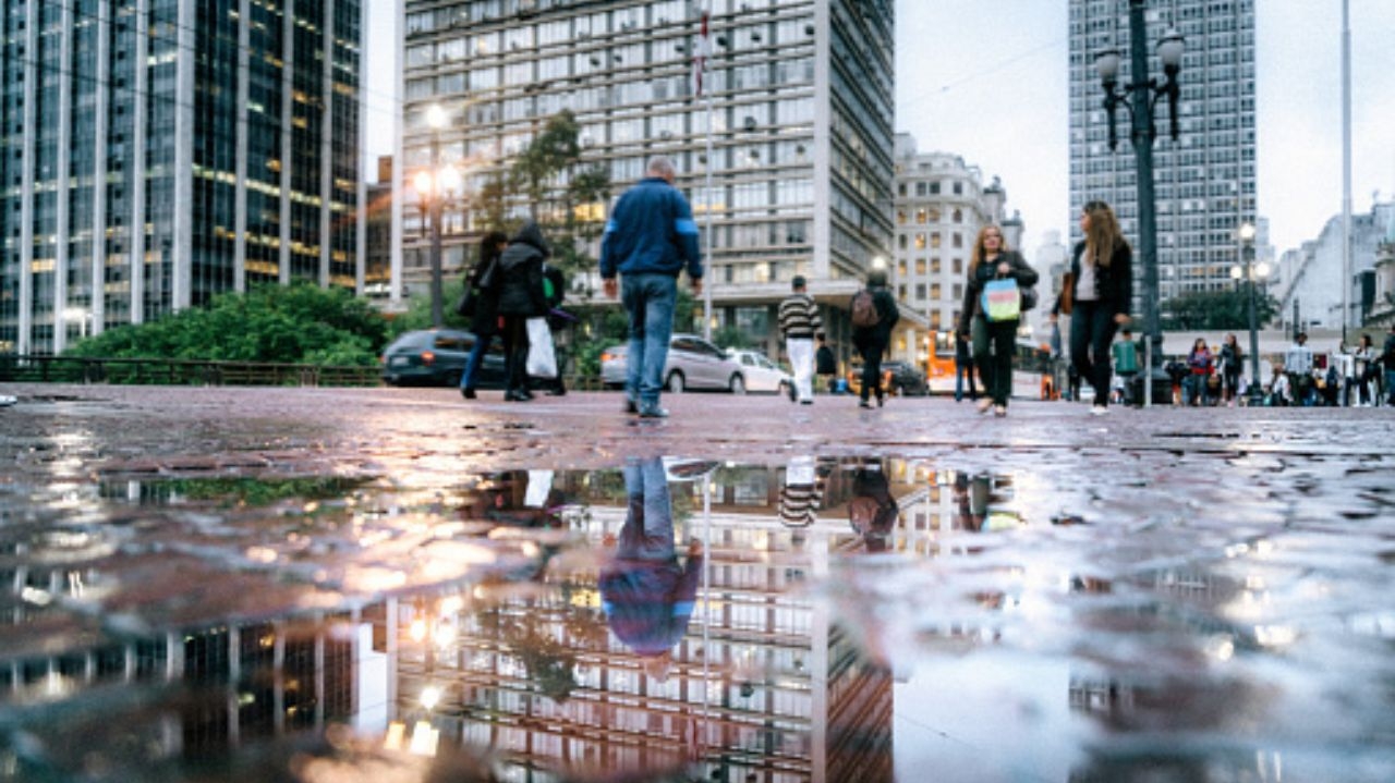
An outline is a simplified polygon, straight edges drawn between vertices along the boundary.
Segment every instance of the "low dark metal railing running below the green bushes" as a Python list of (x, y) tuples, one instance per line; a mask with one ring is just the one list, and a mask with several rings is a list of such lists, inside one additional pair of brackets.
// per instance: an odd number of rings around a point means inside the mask
[(372, 366), (0, 355), (0, 382), (128, 386), (381, 386)]

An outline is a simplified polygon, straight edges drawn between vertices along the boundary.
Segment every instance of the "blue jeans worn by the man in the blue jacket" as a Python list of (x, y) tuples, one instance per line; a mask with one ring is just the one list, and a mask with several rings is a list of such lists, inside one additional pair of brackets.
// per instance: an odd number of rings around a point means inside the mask
[(658, 407), (658, 392), (664, 387), (678, 279), (660, 273), (624, 274), (619, 298), (629, 313), (625, 396), (643, 412)]

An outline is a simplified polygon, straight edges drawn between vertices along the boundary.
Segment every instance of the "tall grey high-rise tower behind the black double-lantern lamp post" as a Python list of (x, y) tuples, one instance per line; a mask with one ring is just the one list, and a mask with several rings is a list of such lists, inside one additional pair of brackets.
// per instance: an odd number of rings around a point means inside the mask
[[(1228, 288), (1230, 266), (1240, 258), (1236, 231), (1243, 223), (1256, 223), (1254, 7), (1254, 0), (1170, 0), (1152, 3), (1147, 11), (1149, 74), (1162, 78), (1155, 50), (1163, 32), (1172, 26), (1186, 38), (1177, 141), (1168, 135), (1166, 102), (1156, 107), (1154, 181), (1163, 312), (1172, 297)], [(1119, 110), (1119, 149), (1110, 152), (1103, 91), (1095, 72), (1095, 54), (1106, 49), (1124, 54), (1119, 84), (1130, 84), (1129, 4), (1070, 0), (1071, 210), (1091, 199), (1109, 202), (1124, 234), (1137, 244), (1130, 118), (1127, 110)], [(1074, 219), (1071, 226), (1067, 244), (1080, 240)]]

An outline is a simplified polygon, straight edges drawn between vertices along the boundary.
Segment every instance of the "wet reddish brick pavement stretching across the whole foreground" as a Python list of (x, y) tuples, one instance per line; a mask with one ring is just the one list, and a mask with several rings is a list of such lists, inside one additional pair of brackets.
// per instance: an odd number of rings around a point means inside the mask
[[(1388, 408), (1024, 401), (997, 419), (685, 394), (639, 421), (605, 393), (0, 392), (18, 397), (0, 410), (0, 780), (877, 780), (893, 757), (903, 780), (1395, 779)], [(702, 492), (670, 471), (675, 520), (720, 566), (671, 681), (607, 641), (594, 598), (618, 468), (658, 457), (720, 465)], [(805, 472), (822, 507), (790, 528)], [(877, 536), (850, 531), (866, 475), (900, 503)], [(414, 619), (442, 606), (459, 628), (413, 658)], [(392, 672), (381, 715), (367, 684), (333, 698), (340, 646)], [(469, 752), (421, 766), (391, 726), (412, 727), (448, 648), (465, 673), (432, 720)], [(636, 692), (654, 701), (608, 701)], [(325, 727), (346, 716), (359, 733)], [(78, 731), (91, 750), (70, 758)]]

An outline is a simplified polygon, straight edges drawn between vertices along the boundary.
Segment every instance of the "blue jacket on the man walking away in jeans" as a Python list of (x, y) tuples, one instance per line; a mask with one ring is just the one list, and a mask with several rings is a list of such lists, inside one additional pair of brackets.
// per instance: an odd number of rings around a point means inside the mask
[(678, 188), (661, 177), (646, 177), (615, 202), (601, 237), (601, 277), (661, 273), (678, 276), (688, 268), (702, 277), (702, 251), (692, 208)]

